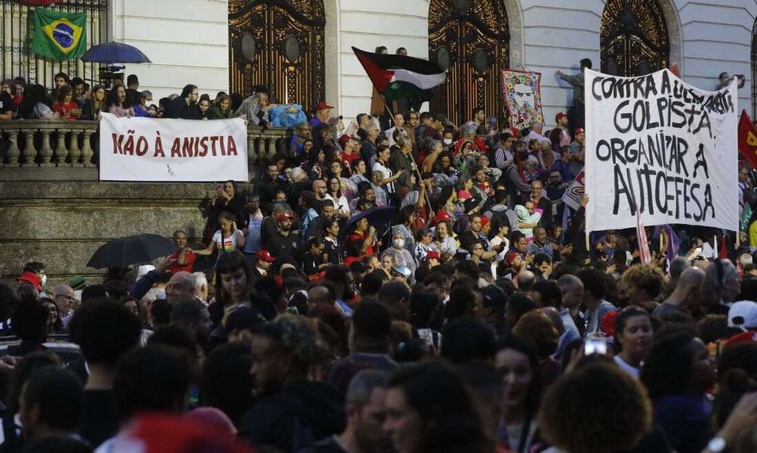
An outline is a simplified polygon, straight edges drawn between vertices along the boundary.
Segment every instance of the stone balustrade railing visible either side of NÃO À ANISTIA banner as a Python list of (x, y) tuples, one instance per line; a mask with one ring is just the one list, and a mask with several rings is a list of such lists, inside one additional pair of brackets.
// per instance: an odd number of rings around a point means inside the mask
[[(0, 163), (6, 167), (95, 166), (98, 163), (97, 121), (23, 119), (0, 122)], [(292, 129), (248, 126), (248, 166), (285, 154)], [(7, 148), (7, 149), (6, 149)]]

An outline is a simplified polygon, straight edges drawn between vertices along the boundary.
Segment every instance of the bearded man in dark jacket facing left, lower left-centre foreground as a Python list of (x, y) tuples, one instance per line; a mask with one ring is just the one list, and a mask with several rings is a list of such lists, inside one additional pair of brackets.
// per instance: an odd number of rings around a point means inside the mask
[(309, 378), (329, 354), (315, 323), (280, 315), (254, 329), (251, 346), (258, 402), (239, 423), (242, 439), (257, 449), (300, 451), (344, 432), (344, 400), (329, 384)]

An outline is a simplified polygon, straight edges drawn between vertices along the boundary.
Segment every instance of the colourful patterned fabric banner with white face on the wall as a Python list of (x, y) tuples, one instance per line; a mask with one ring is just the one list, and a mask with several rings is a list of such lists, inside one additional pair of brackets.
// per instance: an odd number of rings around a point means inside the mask
[(540, 82), (541, 73), (502, 70), (502, 97), (510, 127), (524, 129), (531, 125), (531, 121), (543, 121)]

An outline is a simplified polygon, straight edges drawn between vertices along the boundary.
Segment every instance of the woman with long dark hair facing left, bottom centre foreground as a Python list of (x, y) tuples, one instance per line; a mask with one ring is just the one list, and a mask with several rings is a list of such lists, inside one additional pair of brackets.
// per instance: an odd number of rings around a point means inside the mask
[(401, 368), (389, 380), (388, 431), (398, 453), (491, 453), (472, 393), (441, 361)]

